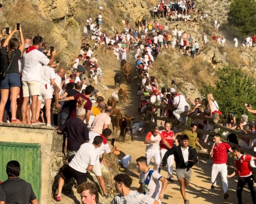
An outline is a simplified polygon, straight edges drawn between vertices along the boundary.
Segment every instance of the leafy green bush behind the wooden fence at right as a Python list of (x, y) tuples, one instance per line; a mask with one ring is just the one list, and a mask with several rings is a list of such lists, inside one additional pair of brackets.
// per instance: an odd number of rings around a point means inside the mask
[(206, 97), (207, 92), (212, 92), (222, 112), (222, 119), (227, 112), (233, 112), (237, 118), (246, 114), (249, 120), (252, 120), (254, 116), (247, 112), (244, 104), (251, 104), (253, 109), (256, 109), (254, 80), (253, 77), (244, 75), (240, 68), (227, 66), (219, 71), (219, 80), (214, 81), (215, 86), (204, 84), (200, 93)]

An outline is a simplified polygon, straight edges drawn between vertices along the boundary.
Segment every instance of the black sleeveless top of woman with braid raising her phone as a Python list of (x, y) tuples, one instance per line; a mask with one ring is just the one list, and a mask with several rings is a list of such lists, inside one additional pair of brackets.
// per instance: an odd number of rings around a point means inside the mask
[[(8, 53), (5, 47), (2, 47), (0, 50), (1, 53), (1, 59), (3, 64), (3, 71), (5, 72), (9, 66), (8, 62)], [(14, 53), (16, 53), (15, 57), (13, 58)], [(6, 73), (19, 73), (19, 58), (21, 57), (21, 51), (19, 49), (16, 49), (15, 51), (11, 52), (11, 59), (13, 58), (13, 61), (11, 62), (11, 65)]]

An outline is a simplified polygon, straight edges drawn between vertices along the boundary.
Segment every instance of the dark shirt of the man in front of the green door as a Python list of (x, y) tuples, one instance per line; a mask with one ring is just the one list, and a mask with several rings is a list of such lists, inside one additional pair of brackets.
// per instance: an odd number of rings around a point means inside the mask
[(7, 179), (0, 185), (0, 201), (5, 204), (29, 204), (35, 199), (32, 186), (21, 178)]

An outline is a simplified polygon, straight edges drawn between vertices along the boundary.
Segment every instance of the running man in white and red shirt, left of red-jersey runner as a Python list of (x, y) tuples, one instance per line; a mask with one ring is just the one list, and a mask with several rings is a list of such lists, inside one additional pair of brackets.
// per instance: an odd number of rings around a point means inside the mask
[(162, 141), (166, 147), (171, 148), (169, 143), (165, 140), (164, 136), (159, 133), (159, 127), (155, 126), (152, 132), (148, 132), (144, 140), (146, 144), (146, 158), (147, 165), (149, 165), (152, 158), (154, 158), (154, 170), (158, 171), (161, 163), (159, 143)]

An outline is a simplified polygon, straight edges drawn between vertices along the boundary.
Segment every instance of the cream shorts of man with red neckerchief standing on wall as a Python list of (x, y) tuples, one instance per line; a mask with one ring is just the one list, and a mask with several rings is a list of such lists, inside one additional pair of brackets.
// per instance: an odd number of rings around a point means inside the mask
[(23, 97), (41, 96), (41, 81), (22, 81)]

